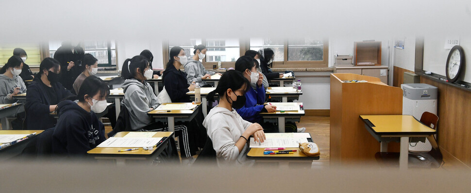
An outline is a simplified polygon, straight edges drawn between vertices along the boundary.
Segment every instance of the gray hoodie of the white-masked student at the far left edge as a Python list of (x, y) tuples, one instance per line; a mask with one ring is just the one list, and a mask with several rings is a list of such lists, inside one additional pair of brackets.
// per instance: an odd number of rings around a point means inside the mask
[(10, 94), (13, 93), (15, 88), (19, 87), (19, 93), (26, 93), (26, 85), (20, 76), (13, 76), (13, 79), (0, 74), (0, 104), (11, 104), (16, 101)]

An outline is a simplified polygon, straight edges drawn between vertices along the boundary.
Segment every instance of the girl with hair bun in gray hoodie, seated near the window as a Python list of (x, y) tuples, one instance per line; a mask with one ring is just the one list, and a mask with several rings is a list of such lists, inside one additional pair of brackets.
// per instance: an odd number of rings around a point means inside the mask
[(207, 79), (211, 79), (212, 75), (219, 74), (219, 72), (211, 72), (204, 68), (203, 63), (200, 60), (203, 60), (206, 56), (206, 47), (202, 44), (195, 46), (195, 54), (192, 58), (188, 58), (188, 61), (185, 64), (185, 73), (186, 80), (188, 84), (191, 85), (192, 82), (199, 82), (200, 86), (206, 85)]

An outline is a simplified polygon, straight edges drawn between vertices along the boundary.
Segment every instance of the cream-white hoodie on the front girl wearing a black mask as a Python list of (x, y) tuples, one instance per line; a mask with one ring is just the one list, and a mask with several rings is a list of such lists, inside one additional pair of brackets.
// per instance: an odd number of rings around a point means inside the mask
[(247, 159), (249, 146), (246, 144), (239, 152), (235, 142), (239, 140), (242, 133), (251, 122), (248, 122), (233, 109), (232, 111), (222, 107), (214, 107), (204, 118), (203, 126), (208, 129), (208, 136), (213, 141), (213, 148), (216, 151), (218, 165), (252, 165), (253, 160)]

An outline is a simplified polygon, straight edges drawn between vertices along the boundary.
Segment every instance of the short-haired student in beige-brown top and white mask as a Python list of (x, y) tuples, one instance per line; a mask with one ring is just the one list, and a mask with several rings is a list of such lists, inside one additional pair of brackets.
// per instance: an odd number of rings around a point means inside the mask
[(85, 54), (82, 59), (82, 65), (78, 67), (82, 73), (80, 73), (74, 81), (73, 88), (75, 93), (79, 93), (80, 86), (82, 85), (82, 82), (84, 82), (85, 78), (95, 76), (98, 73), (98, 59), (91, 54)]

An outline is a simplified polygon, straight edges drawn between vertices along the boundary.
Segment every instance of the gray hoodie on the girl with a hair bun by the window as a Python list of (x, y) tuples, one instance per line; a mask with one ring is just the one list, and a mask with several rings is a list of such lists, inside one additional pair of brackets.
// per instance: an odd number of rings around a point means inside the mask
[(191, 85), (191, 82), (195, 81), (199, 82), (200, 86), (206, 84), (206, 81), (201, 79), (204, 75), (209, 74), (212, 76), (216, 74), (216, 72), (206, 70), (200, 60), (196, 61), (193, 58), (188, 58), (188, 62), (185, 64), (185, 73), (188, 84)]

